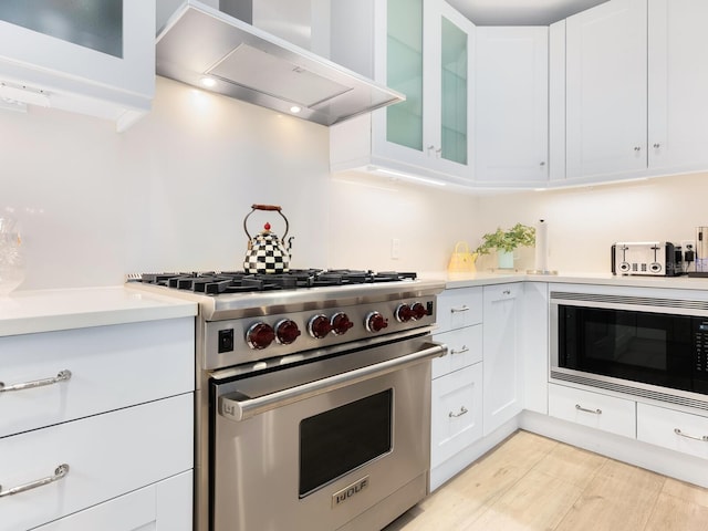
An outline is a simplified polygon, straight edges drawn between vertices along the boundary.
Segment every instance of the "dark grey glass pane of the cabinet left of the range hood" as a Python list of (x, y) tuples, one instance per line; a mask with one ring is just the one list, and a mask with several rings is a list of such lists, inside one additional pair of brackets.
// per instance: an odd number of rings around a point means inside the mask
[(123, 0), (2, 0), (0, 20), (123, 58)]

